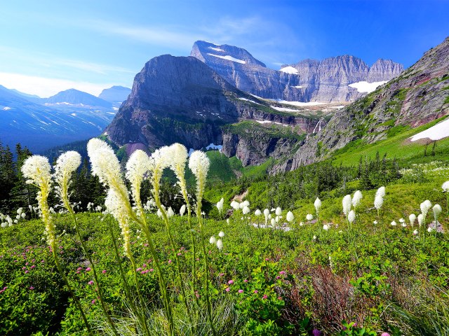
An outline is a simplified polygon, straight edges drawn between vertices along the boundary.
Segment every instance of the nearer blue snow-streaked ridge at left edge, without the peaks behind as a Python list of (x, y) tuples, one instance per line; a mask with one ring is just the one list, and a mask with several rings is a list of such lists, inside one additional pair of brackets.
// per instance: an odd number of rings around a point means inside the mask
[(0, 85), (0, 141), (11, 147), (20, 142), (34, 153), (95, 137), (114, 114), (64, 105), (55, 109), (31, 102)]

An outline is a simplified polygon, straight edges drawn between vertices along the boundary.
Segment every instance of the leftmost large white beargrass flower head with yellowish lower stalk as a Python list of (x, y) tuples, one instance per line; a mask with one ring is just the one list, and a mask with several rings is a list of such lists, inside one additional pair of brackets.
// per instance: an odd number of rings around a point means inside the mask
[[(41, 155), (33, 155), (22, 165), (22, 174), (27, 179), (27, 183), (34, 184), (39, 188), (36, 200), (41, 210), (43, 223), (47, 235), (48, 245), (55, 247), (55, 225), (51, 221), (50, 209), (48, 209), (48, 195), (51, 190), (51, 167), (48, 159)], [(11, 218), (10, 218), (11, 220)], [(8, 221), (9, 222), (9, 221)], [(9, 226), (12, 225), (12, 220)]]

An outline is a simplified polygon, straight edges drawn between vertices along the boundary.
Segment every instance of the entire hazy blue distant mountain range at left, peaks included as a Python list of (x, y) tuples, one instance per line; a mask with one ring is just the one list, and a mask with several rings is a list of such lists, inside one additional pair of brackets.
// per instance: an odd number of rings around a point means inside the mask
[(20, 142), (39, 153), (101, 134), (116, 110), (112, 102), (79, 90), (40, 98), (0, 85), (0, 141), (10, 147)]

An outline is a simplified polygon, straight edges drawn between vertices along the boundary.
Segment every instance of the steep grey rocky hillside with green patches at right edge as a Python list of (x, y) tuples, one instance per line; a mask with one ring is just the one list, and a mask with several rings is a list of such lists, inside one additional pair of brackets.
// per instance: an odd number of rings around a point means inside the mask
[[(293, 170), (329, 158), (338, 149), (344, 151), (347, 145), (374, 144), (448, 114), (449, 37), (387, 85), (337, 111), (321, 132), (309, 137), (276, 169)], [(431, 138), (432, 135), (436, 134), (430, 134)]]

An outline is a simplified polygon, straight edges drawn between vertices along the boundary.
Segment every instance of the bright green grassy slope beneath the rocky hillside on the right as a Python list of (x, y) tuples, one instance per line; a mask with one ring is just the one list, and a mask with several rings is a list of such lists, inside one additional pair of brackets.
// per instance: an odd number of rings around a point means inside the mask
[[(429, 127), (436, 125), (436, 123), (445, 119), (439, 118), (427, 123), (426, 125), (408, 130), (407, 127), (394, 127), (390, 130), (388, 139), (377, 141), (375, 144), (363, 144), (361, 140), (352, 141), (344, 148), (338, 150), (333, 155), (333, 162), (335, 165), (349, 166), (357, 165), (360, 157), (373, 160), (377, 151), (380, 157), (387, 153), (387, 158), (398, 158), (403, 160), (412, 160), (424, 156), (425, 145), (419, 143), (410, 143), (408, 138), (413, 135), (427, 130)], [(431, 146), (427, 147), (427, 155), (431, 153)], [(444, 159), (447, 157), (449, 151), (449, 139), (441, 139), (436, 143), (436, 157), (429, 157), (429, 160)], [(447, 160), (447, 159), (445, 159)]]

